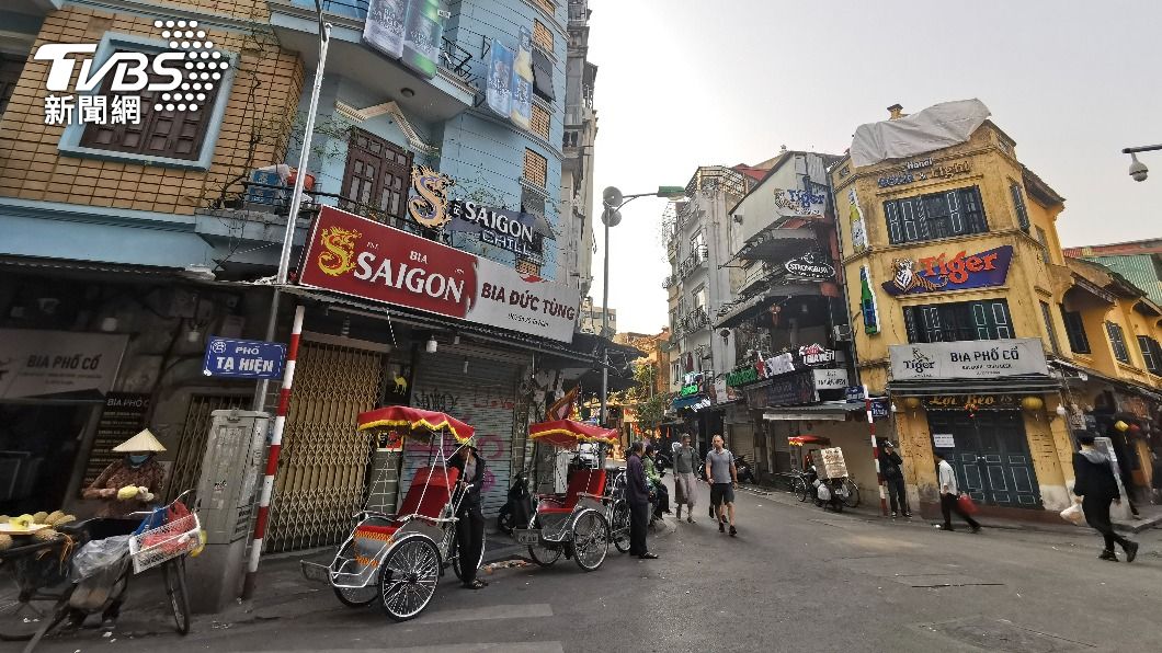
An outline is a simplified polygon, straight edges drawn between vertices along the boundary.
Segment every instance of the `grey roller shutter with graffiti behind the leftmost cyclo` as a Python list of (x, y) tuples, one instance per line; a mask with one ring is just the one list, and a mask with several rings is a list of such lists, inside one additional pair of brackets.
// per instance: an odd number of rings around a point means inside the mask
[[(421, 354), (416, 364), (411, 404), (447, 412), (476, 429), (476, 449), (486, 469), (485, 516), (496, 515), (508, 498), (518, 369), (515, 363), (474, 358), (471, 352)], [(445, 447), (451, 454), (456, 445), (445, 443)], [(422, 446), (404, 451), (401, 490), (428, 464), (429, 454)]]

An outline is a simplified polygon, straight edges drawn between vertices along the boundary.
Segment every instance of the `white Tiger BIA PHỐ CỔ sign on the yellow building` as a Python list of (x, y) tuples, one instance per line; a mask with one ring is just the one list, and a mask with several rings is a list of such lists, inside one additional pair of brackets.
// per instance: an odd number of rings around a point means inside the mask
[(1040, 338), (891, 345), (888, 356), (895, 380), (995, 379), (1049, 373)]

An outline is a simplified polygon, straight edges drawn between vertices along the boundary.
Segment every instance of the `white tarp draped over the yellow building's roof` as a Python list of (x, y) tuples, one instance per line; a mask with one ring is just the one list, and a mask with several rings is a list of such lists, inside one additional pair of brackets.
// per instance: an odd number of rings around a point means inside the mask
[(899, 120), (861, 124), (852, 141), (852, 164), (862, 167), (963, 143), (989, 115), (984, 102), (974, 98), (933, 105)]

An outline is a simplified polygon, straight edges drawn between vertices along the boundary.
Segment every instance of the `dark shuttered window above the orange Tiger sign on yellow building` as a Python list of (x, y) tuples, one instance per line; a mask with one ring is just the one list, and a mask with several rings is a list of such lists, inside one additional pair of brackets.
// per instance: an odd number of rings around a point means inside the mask
[(892, 244), (933, 241), (966, 234), (984, 234), (981, 191), (976, 186), (918, 195), (883, 203), (888, 239)]

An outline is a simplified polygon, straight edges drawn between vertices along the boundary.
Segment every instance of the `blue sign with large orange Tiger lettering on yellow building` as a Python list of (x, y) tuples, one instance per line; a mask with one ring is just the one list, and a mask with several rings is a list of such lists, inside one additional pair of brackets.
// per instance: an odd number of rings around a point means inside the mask
[(1004, 245), (975, 254), (961, 250), (949, 257), (941, 252), (916, 261), (895, 258), (892, 279), (883, 282), (883, 289), (889, 295), (910, 295), (1000, 286), (1009, 275), (1012, 257), (1012, 245)]

